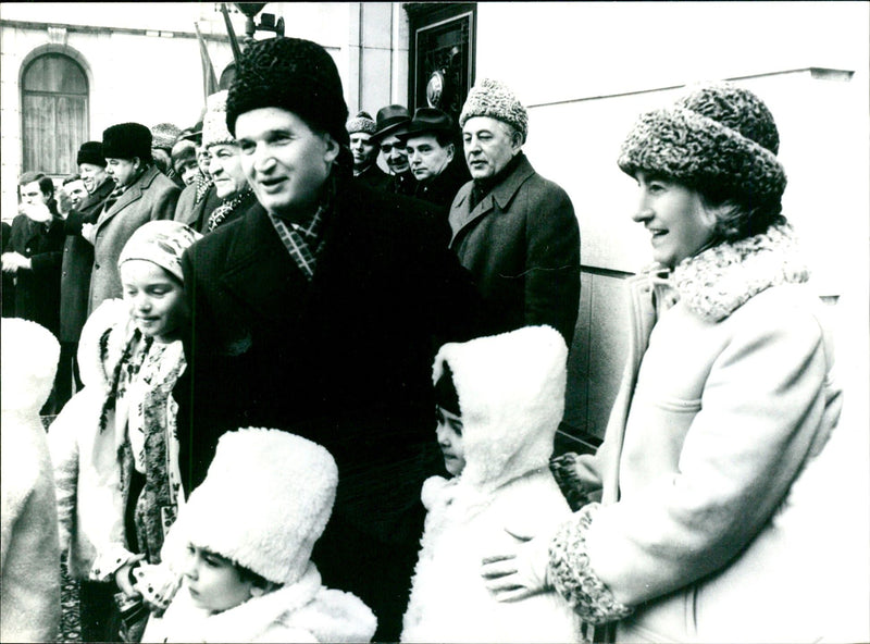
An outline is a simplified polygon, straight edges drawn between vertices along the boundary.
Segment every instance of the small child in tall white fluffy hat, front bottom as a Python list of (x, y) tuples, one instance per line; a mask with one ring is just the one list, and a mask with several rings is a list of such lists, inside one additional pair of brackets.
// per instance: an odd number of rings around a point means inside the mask
[(184, 573), (144, 642), (369, 642), (374, 614), (321, 583), (311, 549), (338, 470), (322, 446), (278, 430), (224, 434), (164, 547)]

